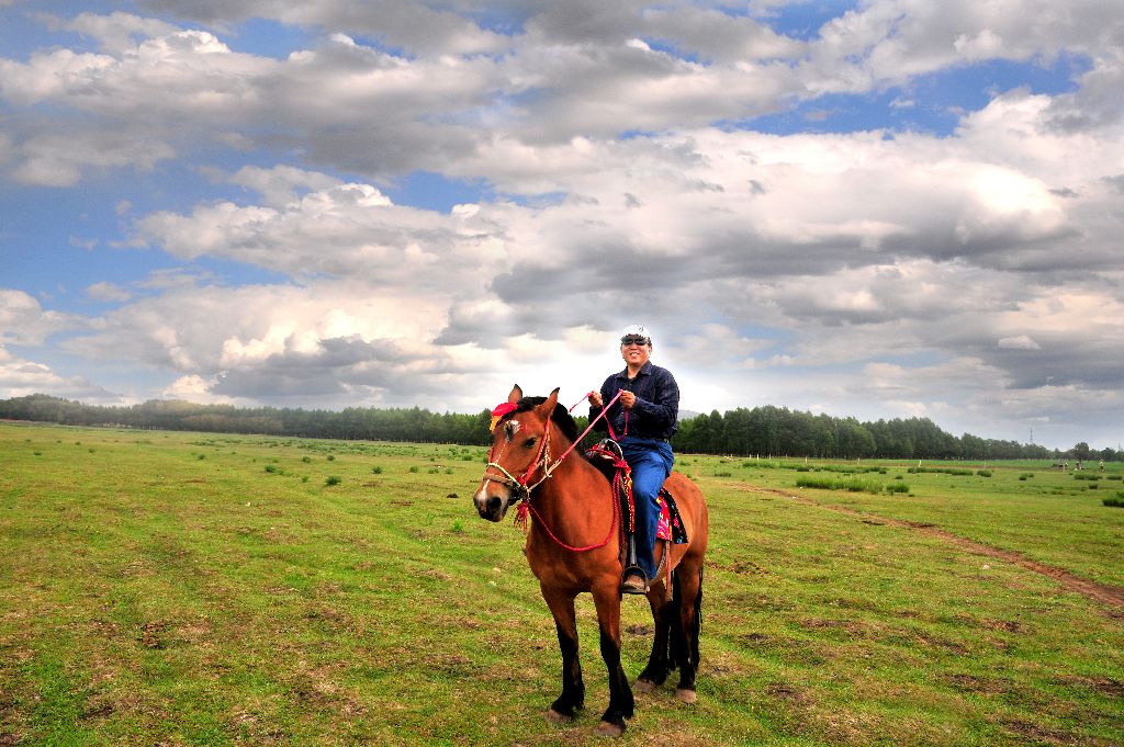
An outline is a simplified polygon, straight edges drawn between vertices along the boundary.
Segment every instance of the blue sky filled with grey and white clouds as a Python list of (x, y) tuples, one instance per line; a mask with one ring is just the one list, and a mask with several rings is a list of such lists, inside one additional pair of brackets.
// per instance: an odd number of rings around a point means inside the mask
[(0, 0), (0, 398), (1124, 441), (1120, 0)]

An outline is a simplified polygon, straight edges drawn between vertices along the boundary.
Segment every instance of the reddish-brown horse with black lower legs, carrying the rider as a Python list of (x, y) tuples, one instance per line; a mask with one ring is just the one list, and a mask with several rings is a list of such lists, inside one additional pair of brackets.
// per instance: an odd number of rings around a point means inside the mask
[[(558, 393), (555, 389), (547, 398), (524, 398), (518, 385), (511, 390), (508, 402), (513, 411), (493, 428), (489, 464), (474, 501), (480, 516), (490, 521), (500, 521), (520, 501), (527, 501), (531, 509), (533, 520), (524, 553), (554, 616), (562, 649), (562, 694), (546, 718), (569, 720), (583, 705), (586, 687), (578, 658), (574, 598), (591, 592), (601, 634), (601, 658), (609, 669), (609, 707), (598, 731), (619, 736), (634, 705), (628, 677), (620, 666), (620, 512), (614, 508), (616, 498), (608, 479), (580, 449), (566, 456), (578, 439), (578, 429), (566, 409), (558, 403)], [(682, 474), (672, 473), (664, 486), (679, 507), (688, 544), (670, 545), (671, 593), (667, 574), (660, 573), (647, 594), (655, 636), (636, 690), (654, 690), (667, 680), (669, 669), (678, 666), (676, 696), (692, 703), (699, 663), (707, 508), (703, 493)], [(669, 545), (659, 545), (656, 562), (661, 563)]]

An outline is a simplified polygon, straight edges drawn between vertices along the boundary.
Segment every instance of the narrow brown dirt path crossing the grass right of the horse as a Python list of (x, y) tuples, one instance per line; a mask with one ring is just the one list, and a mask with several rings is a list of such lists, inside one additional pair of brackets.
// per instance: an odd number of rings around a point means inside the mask
[(804, 503), (806, 505), (815, 505), (816, 508), (827, 509), (830, 511), (836, 511), (839, 513), (845, 513), (847, 516), (853, 516), (867, 523), (878, 523), (887, 525), (890, 527), (901, 527), (905, 529), (913, 529), (915, 531), (922, 531), (926, 535), (933, 537), (940, 537), (941, 539), (949, 541), (958, 547), (962, 547), (977, 555), (986, 555), (987, 557), (994, 557), (1000, 561), (1006, 561), (1007, 563), (1015, 563), (1028, 568), (1034, 573), (1041, 574), (1043, 576), (1053, 579), (1062, 586), (1070, 591), (1075, 591), (1079, 594), (1084, 594), (1089, 599), (1096, 600), (1103, 604), (1107, 604), (1114, 608), (1111, 612), (1113, 617), (1124, 617), (1124, 587), (1113, 586), (1112, 584), (1103, 584), (1096, 581), (1089, 581), (1088, 579), (1082, 579), (1080, 576), (1073, 575), (1064, 568), (1059, 568), (1052, 565), (1046, 565), (1044, 563), (1039, 563), (1037, 561), (1032, 561), (1031, 558), (1022, 555), (1021, 553), (1015, 553), (1013, 550), (999, 549), (998, 547), (991, 547), (990, 545), (984, 545), (971, 539), (964, 539), (953, 535), (951, 531), (941, 529), (936, 525), (932, 523), (921, 523), (917, 521), (904, 521), (901, 519), (890, 519), (877, 513), (868, 513), (865, 511), (858, 511), (855, 509), (850, 509), (844, 505), (833, 505), (831, 503), (821, 503), (819, 501), (814, 501), (810, 498), (805, 498), (803, 495), (794, 495), (783, 490), (776, 490), (771, 488), (756, 488), (747, 485), (746, 490), (752, 493), (762, 493), (768, 495), (780, 495), (781, 498), (787, 498), (789, 500), (796, 501), (797, 503)]

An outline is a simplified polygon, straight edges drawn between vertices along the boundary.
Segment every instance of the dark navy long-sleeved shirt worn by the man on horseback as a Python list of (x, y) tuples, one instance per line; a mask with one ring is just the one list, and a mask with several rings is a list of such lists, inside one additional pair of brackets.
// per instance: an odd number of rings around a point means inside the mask
[[(619, 390), (635, 392), (636, 404), (628, 411), (628, 436), (634, 438), (670, 439), (678, 430), (679, 384), (667, 368), (653, 365), (651, 361), (628, 379), (628, 368), (615, 373), (601, 384), (601, 401), (608, 402)], [(589, 419), (600, 415), (604, 408), (589, 408)], [(595, 430), (607, 430), (605, 420), (613, 423), (617, 438), (625, 432), (625, 409), (620, 400), (613, 403), (605, 419), (598, 420)]]

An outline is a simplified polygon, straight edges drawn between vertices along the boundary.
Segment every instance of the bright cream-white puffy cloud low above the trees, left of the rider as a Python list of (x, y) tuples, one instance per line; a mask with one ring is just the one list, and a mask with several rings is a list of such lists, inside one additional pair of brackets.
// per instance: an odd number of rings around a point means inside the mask
[(439, 389), (439, 375), (462, 367), (430, 344), (442, 320), (437, 299), (427, 302), (409, 289), (372, 294), (350, 282), (189, 286), (115, 309), (93, 334), (63, 347), (91, 362), (129, 359), (174, 371), (183, 386), (202, 381), (216, 395), (312, 403), (342, 397), (348, 386), (381, 391), (395, 384), (407, 392), (396, 397), (408, 397)]

